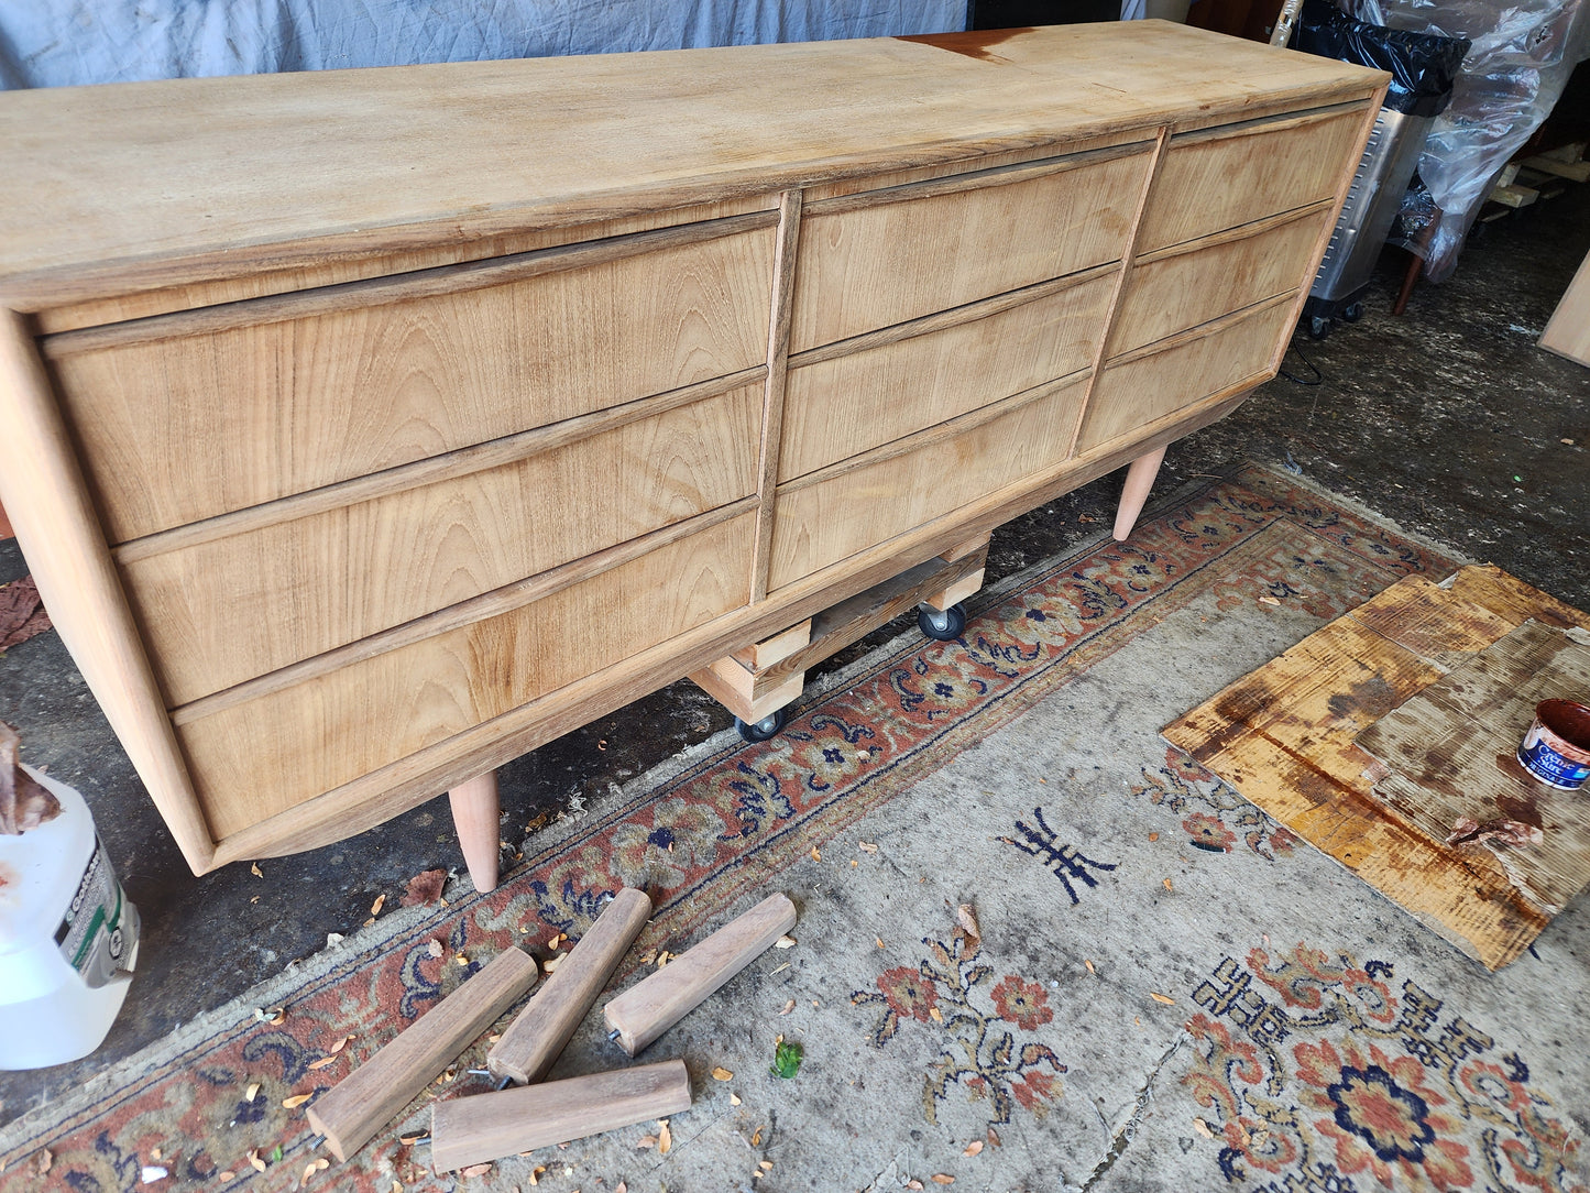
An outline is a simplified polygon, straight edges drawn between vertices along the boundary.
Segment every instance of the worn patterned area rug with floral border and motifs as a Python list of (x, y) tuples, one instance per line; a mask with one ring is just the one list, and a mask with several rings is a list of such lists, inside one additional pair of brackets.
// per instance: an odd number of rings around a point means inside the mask
[[(496, 892), (388, 913), (13, 1123), (0, 1187), (1584, 1190), (1585, 908), (1485, 973), (1158, 738), (1455, 566), (1262, 469), (1185, 492), (975, 600), (959, 643), (900, 638), (779, 738), (556, 826)], [(639, 1058), (688, 1063), (688, 1112), (437, 1177), (415, 1136), (488, 1088), (482, 1040), (315, 1166), (305, 1102), (622, 884), (657, 915), (615, 986), (773, 891), (801, 910), (795, 948)], [(622, 1064), (593, 1013), (552, 1075)]]

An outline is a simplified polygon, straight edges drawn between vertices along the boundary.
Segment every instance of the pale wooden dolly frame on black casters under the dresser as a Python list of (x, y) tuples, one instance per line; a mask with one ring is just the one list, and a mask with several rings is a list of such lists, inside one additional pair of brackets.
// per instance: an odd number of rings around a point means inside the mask
[(708, 663), (690, 678), (754, 725), (800, 697), (806, 671), (859, 643), (906, 609), (944, 611), (983, 587), (989, 536), (957, 542), (937, 558), (874, 584), (758, 643)]

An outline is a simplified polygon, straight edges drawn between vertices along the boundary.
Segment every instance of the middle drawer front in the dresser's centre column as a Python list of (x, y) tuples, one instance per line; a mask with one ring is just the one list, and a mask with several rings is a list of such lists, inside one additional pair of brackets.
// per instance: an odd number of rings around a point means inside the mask
[(790, 369), (779, 480), (1092, 364), (1115, 274), (943, 331)]

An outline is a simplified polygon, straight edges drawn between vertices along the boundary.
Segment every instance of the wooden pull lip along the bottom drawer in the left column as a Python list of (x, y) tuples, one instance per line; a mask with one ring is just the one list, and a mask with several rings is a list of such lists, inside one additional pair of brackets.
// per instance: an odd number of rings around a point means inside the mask
[(501, 612), (518, 609), (525, 604), (531, 604), (533, 601), (539, 601), (544, 596), (563, 592), (564, 589), (582, 581), (588, 581), (593, 576), (601, 576), (604, 571), (612, 571), (623, 563), (638, 560), (642, 555), (647, 555), (658, 547), (666, 547), (671, 542), (677, 542), (688, 534), (711, 530), (720, 522), (728, 522), (741, 514), (755, 512), (755, 509), (757, 496), (744, 496), (738, 501), (730, 501), (727, 506), (719, 506), (717, 509), (709, 509), (704, 514), (696, 514), (684, 522), (661, 527), (649, 534), (641, 534), (639, 538), (633, 538), (626, 542), (571, 560), (569, 563), (561, 563), (556, 568), (549, 568), (547, 571), (536, 573), (534, 576), (526, 576), (522, 581), (504, 584), (499, 589), (483, 592), (467, 601), (460, 601), (458, 604), (452, 604), (445, 609), (437, 609), (436, 612), (428, 612), (423, 617), (415, 617), (402, 625), (394, 625), (391, 630), (382, 630), (380, 633), (361, 638), (356, 643), (334, 647), (323, 654), (312, 655), (310, 659), (304, 659), (302, 662), (289, 663), (288, 666), (269, 671), (267, 674), (256, 676), (254, 679), (245, 679), (242, 684), (234, 684), (232, 687), (221, 689), (219, 692), (200, 697), (199, 700), (192, 700), (186, 705), (178, 705), (170, 709), (172, 724), (186, 725), (248, 700), (280, 692), (293, 684), (301, 684), (305, 679), (337, 671), (364, 659), (374, 659), (378, 654), (386, 654), (388, 651), (396, 651), (426, 638), (434, 638), (439, 633), (447, 633), (448, 630), (456, 630), (464, 625), (472, 625), (474, 622), (482, 622), (487, 617), (496, 617)]

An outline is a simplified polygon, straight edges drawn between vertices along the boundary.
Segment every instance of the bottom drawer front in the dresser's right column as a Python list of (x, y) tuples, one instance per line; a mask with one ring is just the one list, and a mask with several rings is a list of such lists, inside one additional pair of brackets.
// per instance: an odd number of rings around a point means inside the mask
[(1262, 374), (1262, 380), (1291, 329), (1291, 317), (1288, 299), (1180, 347), (1124, 364), (1107, 363), (1088, 402), (1076, 450), (1088, 452), (1137, 431), (1245, 377)]

